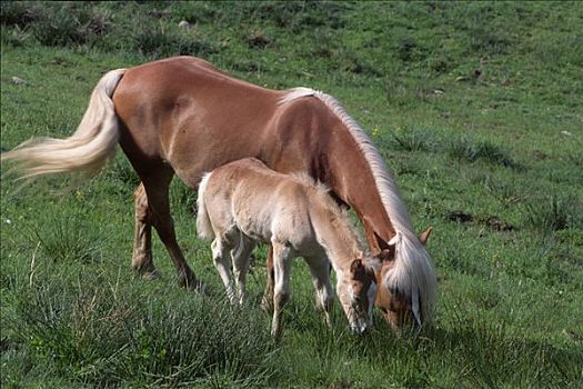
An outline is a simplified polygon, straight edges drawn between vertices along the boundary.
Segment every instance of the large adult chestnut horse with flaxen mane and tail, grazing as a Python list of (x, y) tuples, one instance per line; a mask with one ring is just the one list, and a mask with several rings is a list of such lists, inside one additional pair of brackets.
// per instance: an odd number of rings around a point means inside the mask
[(354, 209), (372, 253), (383, 258), (375, 305), (392, 326), (430, 319), (436, 277), (423, 239), (378, 150), (331, 96), (308, 88), (270, 90), (204, 60), (175, 57), (108, 72), (70, 138), (32, 140), (1, 159), (19, 162), (27, 177), (91, 174), (118, 143), (141, 180), (132, 267), (142, 275), (155, 276), (153, 226), (180, 282), (198, 286), (177, 242), (170, 181), (177, 174), (195, 189), (203, 172), (255, 157), (273, 170), (311, 176)]

